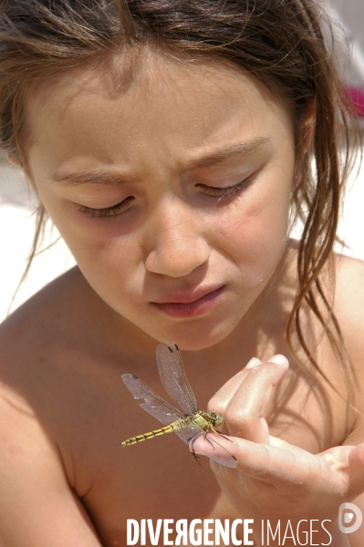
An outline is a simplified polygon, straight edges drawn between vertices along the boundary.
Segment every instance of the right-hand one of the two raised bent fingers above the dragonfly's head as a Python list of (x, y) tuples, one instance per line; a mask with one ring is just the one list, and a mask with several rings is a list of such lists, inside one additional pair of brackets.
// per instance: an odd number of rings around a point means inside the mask
[(250, 370), (224, 411), (229, 435), (259, 443), (269, 442), (265, 408), (274, 387), (285, 376), (287, 369), (286, 357), (274, 356)]

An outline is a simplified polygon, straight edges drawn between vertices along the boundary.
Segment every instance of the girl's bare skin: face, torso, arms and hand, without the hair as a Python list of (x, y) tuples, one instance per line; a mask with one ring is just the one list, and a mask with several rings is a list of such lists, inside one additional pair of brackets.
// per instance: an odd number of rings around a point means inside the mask
[[(338, 505), (364, 511), (363, 268), (339, 265), (335, 302), (356, 414), (310, 315), (307, 339), (320, 341), (337, 391), (286, 345), (300, 174), (285, 102), (223, 61), (148, 50), (124, 61), (28, 92), (27, 170), (78, 267), (0, 329), (0, 542), (124, 546), (127, 519), (253, 518), (329, 519), (332, 544), (347, 545)], [(311, 104), (304, 151), (314, 114)], [(159, 427), (120, 375), (164, 397), (155, 347), (165, 338), (182, 348), (199, 408), (224, 416), (231, 439), (219, 442), (236, 470), (199, 467), (172, 434), (120, 447)]]

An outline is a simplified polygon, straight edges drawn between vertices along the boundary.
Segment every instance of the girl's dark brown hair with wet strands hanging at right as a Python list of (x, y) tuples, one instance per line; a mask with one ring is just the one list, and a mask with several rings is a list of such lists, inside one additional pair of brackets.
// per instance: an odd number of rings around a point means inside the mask
[[(296, 333), (318, 370), (300, 315), (308, 305), (345, 367), (340, 328), (321, 277), (333, 256), (350, 150), (359, 143), (330, 50), (331, 26), (321, 12), (313, 0), (2, 0), (0, 7), (0, 146), (25, 170), (27, 87), (123, 49), (153, 46), (176, 57), (228, 59), (286, 101), (300, 172), (293, 205), (304, 222), (287, 339), (295, 353)], [(300, 134), (313, 100), (315, 134), (311, 153), (304, 154)], [(346, 150), (341, 160), (338, 145)], [(28, 267), (45, 214), (40, 205)]]

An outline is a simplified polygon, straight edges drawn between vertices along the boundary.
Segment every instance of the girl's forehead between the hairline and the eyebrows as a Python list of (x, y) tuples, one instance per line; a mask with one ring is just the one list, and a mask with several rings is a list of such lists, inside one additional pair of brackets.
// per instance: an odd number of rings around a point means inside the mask
[[(61, 163), (76, 155), (113, 163), (164, 154), (176, 161), (243, 130), (291, 134), (284, 105), (243, 69), (217, 59), (145, 50), (69, 71), (29, 94), (29, 153)], [(54, 166), (57, 167), (56, 165)]]

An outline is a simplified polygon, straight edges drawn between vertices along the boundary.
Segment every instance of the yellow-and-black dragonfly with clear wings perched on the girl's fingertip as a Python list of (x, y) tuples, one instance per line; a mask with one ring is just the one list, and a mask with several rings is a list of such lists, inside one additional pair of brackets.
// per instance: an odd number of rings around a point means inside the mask
[[(182, 356), (177, 344), (172, 340), (165, 340), (156, 349), (157, 364), (163, 384), (167, 393), (182, 408), (173, 407), (170, 403), (159, 397), (144, 382), (132, 374), (121, 376), (125, 386), (128, 387), (131, 395), (136, 399), (144, 399), (140, 407), (151, 416), (157, 418), (163, 428), (155, 429), (136, 437), (124, 440), (122, 447), (130, 447), (144, 440), (154, 439), (167, 433), (176, 433), (180, 439), (190, 447), (192, 455), (197, 459), (193, 445), (199, 439), (200, 449), (209, 448), (209, 458), (229, 468), (235, 468), (236, 458), (224, 449), (213, 435), (224, 435), (215, 429), (223, 423), (223, 417), (217, 412), (208, 414), (199, 410), (197, 399), (192, 391), (190, 382), (186, 377)], [(198, 462), (199, 463), (199, 462)]]

